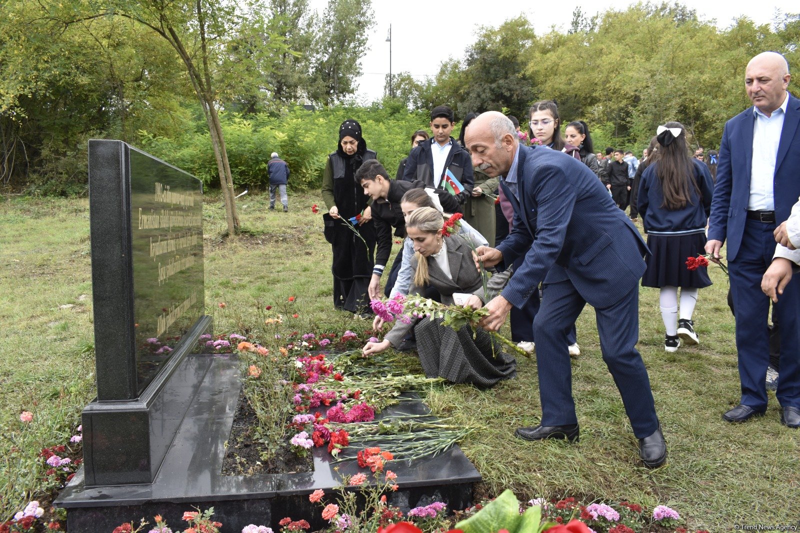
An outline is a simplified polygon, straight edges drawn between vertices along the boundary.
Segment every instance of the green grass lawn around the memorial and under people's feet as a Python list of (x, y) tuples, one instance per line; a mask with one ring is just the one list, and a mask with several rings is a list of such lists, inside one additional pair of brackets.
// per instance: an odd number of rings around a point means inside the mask
[[(274, 306), (297, 331), (365, 329), (369, 323), (332, 311), (330, 246), (314, 195), (292, 196), (291, 211), (267, 211), (266, 196), (239, 198), (246, 234), (222, 240), (224, 210), (206, 197), (206, 312), (215, 331), (261, 329)], [(0, 519), (36, 495), (42, 474), (35, 455), (63, 443), (94, 395), (89, 213), (86, 199), (16, 198), (0, 202), (0, 428), (15, 432), (22, 410), (33, 411), (21, 452), (0, 439)], [(398, 246), (395, 246), (395, 250)], [(663, 350), (658, 291), (640, 293), (639, 349), (650, 371), (658, 415), (670, 450), (665, 467), (639, 465), (630, 423), (602, 362), (594, 313), (578, 321), (582, 355), (573, 361), (578, 444), (526, 443), (514, 429), (541, 415), (535, 359), (520, 359), (518, 377), (489, 391), (434, 387), (434, 411), (480, 427), (462, 443), (481, 472), (478, 495), (511, 488), (520, 499), (574, 495), (585, 501), (626, 499), (674, 507), (691, 526), (720, 531), (735, 523), (789, 524), (798, 519), (800, 431), (783, 427), (770, 394), (766, 417), (732, 426), (720, 415), (738, 403), (733, 319), (727, 282), (710, 269), (714, 286), (700, 292), (694, 320), (699, 347)], [(86, 296), (84, 296), (86, 295)], [(289, 296), (297, 301), (288, 303)], [(218, 303), (226, 303), (225, 309)], [(72, 307), (59, 307), (72, 304)], [(298, 319), (291, 319), (298, 313)], [(507, 333), (507, 331), (506, 331)]]

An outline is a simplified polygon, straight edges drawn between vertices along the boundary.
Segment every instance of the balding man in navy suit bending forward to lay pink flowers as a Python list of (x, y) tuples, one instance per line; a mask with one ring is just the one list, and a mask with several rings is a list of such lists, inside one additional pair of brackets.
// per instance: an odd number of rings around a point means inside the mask
[(542, 423), (521, 427), (522, 439), (578, 439), (572, 398), (567, 332), (589, 303), (595, 309), (602, 357), (639, 439), (648, 467), (666, 460), (650, 379), (636, 350), (638, 282), (648, 253), (638, 230), (619, 210), (602, 182), (578, 159), (537, 146), (521, 146), (511, 121), (497, 111), (478, 116), (466, 129), (472, 163), (490, 177), (502, 176), (514, 206), (514, 229), (497, 248), (480, 246), (486, 266), (510, 265), (524, 256), (510, 282), (486, 304), (481, 325), (498, 331), (511, 307), (521, 309), (553, 269), (534, 320)]

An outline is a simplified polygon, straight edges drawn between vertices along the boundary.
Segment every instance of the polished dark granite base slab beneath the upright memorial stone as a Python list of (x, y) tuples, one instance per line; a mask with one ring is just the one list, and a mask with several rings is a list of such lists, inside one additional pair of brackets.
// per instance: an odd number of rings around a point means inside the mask
[[(188, 380), (200, 383), (190, 393)], [(314, 471), (294, 474), (222, 475), (225, 443), (234, 422), (241, 390), (235, 356), (189, 355), (162, 387), (162, 395), (177, 403), (189, 402), (177, 434), (166, 450), (153, 483), (87, 487), (83, 470), (54, 503), (67, 510), (70, 533), (109, 532), (124, 522), (139, 519), (153, 523), (160, 514), (175, 529), (184, 511), (214, 507), (214, 519), (222, 531), (238, 533), (251, 523), (278, 531), (286, 516), (306, 519), (312, 531), (325, 527), (322, 507), (308, 495), (322, 489), (326, 494), (344, 475), (359, 471), (355, 460), (334, 463), (325, 447), (314, 448)], [(189, 398), (190, 397), (190, 398)], [(165, 402), (166, 403), (166, 402)], [(404, 401), (384, 410), (378, 418), (426, 414), (420, 401)], [(143, 437), (144, 438), (144, 437)], [(407, 512), (434, 501), (458, 510), (472, 505), (473, 484), (481, 480), (459, 447), (434, 458), (413, 463), (394, 461), (398, 491), (387, 495), (390, 505)], [(334, 470), (334, 467), (337, 470)]]

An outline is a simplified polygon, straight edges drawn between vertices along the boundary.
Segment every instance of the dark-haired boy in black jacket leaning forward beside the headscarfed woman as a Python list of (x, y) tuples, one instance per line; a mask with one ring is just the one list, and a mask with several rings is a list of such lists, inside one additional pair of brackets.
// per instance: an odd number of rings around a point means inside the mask
[[(472, 167), (470, 166), (470, 170)], [(381, 276), (389, 261), (392, 251), (392, 228), (394, 235), (406, 238), (406, 218), (400, 209), (400, 200), (403, 194), (410, 189), (425, 189), (426, 184), (415, 180), (413, 182), (397, 181), (390, 179), (389, 173), (377, 159), (369, 159), (356, 170), (355, 181), (364, 187), (364, 194), (372, 198), (372, 220), (375, 225), (375, 234), (378, 240), (375, 252), (375, 266), (372, 271), (368, 294), (370, 299), (380, 298)], [(439, 203), (446, 213), (461, 213), (458, 200), (446, 190), (431, 189), (431, 194), (438, 197)], [(397, 279), (398, 270), (402, 262), (402, 254), (394, 257), (389, 279), (386, 280), (386, 294), (388, 295)]]

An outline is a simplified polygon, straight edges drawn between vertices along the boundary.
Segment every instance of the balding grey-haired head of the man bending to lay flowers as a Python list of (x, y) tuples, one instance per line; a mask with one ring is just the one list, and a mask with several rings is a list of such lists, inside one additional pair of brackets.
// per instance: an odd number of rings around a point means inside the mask
[(506, 175), (519, 146), (514, 124), (498, 111), (479, 114), (466, 126), (464, 143), (472, 153), (472, 165), (490, 178)]

